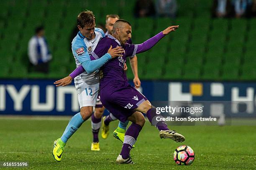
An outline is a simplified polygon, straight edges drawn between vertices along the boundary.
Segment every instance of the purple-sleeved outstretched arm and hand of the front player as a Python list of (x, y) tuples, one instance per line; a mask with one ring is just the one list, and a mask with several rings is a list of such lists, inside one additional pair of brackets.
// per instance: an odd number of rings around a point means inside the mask
[(165, 35), (169, 34), (172, 31), (177, 30), (178, 28), (179, 28), (179, 25), (170, 26), (170, 27), (166, 28), (165, 30), (161, 31), (160, 33), (158, 33), (157, 35), (155, 35), (154, 37), (146, 40), (145, 42), (143, 42), (141, 44), (138, 44), (136, 54), (145, 52), (145, 51), (149, 50), (150, 48), (154, 47), (154, 45), (156, 45), (156, 43), (159, 42), (159, 40), (161, 40)]

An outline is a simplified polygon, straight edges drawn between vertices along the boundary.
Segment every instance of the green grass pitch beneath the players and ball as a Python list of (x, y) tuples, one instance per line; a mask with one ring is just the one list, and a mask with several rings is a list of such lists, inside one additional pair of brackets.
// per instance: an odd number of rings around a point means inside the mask
[[(169, 126), (185, 136), (184, 143), (160, 139), (158, 130), (147, 121), (136, 148), (131, 150), (134, 165), (118, 165), (115, 159), (122, 144), (110, 133), (100, 137), (100, 151), (91, 151), (90, 120), (68, 141), (61, 162), (52, 157), (53, 142), (62, 135), (69, 118), (62, 120), (10, 119), (0, 117), (0, 162), (29, 162), (26, 169), (256, 169), (255, 126)], [(110, 124), (113, 132), (118, 121)], [(174, 163), (173, 153), (179, 145), (195, 151), (189, 166)], [(1, 169), (1, 167), (0, 167)], [(8, 168), (17, 169), (17, 168)]]

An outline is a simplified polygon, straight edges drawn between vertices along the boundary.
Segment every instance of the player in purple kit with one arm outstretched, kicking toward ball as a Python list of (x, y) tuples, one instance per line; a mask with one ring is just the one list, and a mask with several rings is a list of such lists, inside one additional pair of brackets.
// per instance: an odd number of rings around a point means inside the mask
[(131, 24), (126, 20), (118, 20), (113, 27), (113, 36), (108, 35), (108, 37), (102, 38), (90, 55), (91, 60), (95, 60), (95, 58), (104, 55), (110, 45), (113, 47), (121, 46), (125, 50), (123, 57), (112, 59), (100, 68), (102, 104), (118, 120), (122, 122), (130, 120), (133, 122), (125, 133), (121, 153), (116, 159), (117, 163), (133, 163), (130, 157), (130, 150), (145, 123), (142, 113), (146, 114), (151, 124), (158, 128), (160, 138), (170, 138), (176, 142), (185, 140), (181, 134), (169, 130), (165, 121), (159, 121), (162, 116), (156, 114), (156, 108), (151, 105), (144, 95), (128, 84), (127, 80), (124, 79), (125, 72), (123, 70), (126, 56), (134, 56), (136, 53), (149, 50), (161, 38), (177, 28), (179, 28), (179, 25), (170, 26), (142, 44), (133, 45), (126, 43), (131, 38)]

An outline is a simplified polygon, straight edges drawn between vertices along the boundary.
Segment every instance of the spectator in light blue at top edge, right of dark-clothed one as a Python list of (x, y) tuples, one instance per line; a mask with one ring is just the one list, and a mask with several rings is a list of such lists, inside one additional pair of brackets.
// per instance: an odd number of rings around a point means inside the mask
[(175, 18), (177, 13), (176, 0), (156, 0), (156, 15)]

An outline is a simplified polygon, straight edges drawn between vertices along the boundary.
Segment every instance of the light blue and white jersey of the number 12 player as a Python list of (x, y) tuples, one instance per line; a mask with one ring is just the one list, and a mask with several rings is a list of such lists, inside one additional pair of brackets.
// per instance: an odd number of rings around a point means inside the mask
[(75, 85), (81, 82), (86, 82), (87, 84), (99, 82), (98, 69), (110, 60), (111, 56), (107, 53), (100, 59), (91, 61), (89, 54), (94, 51), (102, 37), (105, 37), (105, 34), (100, 28), (95, 28), (95, 38), (92, 40), (88, 40), (80, 31), (77, 33), (77, 36), (74, 37), (72, 41), (72, 52), (76, 65), (77, 67), (82, 65), (86, 71), (74, 79)]

